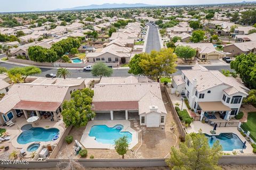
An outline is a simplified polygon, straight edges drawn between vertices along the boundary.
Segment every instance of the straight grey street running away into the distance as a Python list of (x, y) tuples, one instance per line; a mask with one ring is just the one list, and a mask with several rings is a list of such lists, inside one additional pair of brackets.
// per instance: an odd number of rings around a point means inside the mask
[(158, 36), (158, 30), (155, 25), (147, 24), (149, 26), (146, 53), (150, 53), (151, 50), (159, 51), (161, 49), (160, 40)]

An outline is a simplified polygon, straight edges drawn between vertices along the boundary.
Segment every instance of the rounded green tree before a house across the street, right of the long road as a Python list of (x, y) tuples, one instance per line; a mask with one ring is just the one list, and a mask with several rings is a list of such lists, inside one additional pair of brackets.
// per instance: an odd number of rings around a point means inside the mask
[(196, 55), (196, 50), (189, 46), (178, 46), (175, 48), (175, 54), (187, 62), (188, 59)]

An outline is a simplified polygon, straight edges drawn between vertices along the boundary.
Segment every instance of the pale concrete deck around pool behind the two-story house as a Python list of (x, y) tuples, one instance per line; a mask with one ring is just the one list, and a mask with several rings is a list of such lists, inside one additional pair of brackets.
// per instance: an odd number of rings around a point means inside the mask
[[(194, 121), (193, 123), (190, 124), (190, 126), (191, 126), (190, 128), (186, 128), (186, 131), (188, 133), (192, 133), (192, 132), (198, 133), (198, 131), (201, 129), (203, 133), (213, 135), (210, 133), (210, 131), (213, 130), (213, 127), (206, 123), (202, 123), (200, 121)], [(242, 136), (242, 134), (237, 130), (236, 127), (217, 127), (216, 134), (214, 135), (219, 135), (220, 133), (234, 133), (242, 140), (242, 142), (246, 141), (246, 139)], [(234, 149), (234, 150), (241, 151), (241, 149)], [(241, 154), (253, 154), (252, 150), (253, 148), (251, 144), (248, 141), (246, 141), (246, 149), (243, 149), (243, 153)], [(232, 151), (223, 150), (223, 152), (233, 155)]]

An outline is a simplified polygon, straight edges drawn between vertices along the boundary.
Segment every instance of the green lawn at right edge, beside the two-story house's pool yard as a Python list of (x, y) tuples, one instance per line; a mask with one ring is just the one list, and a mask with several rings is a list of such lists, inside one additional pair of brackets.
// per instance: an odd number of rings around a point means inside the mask
[(243, 123), (241, 128), (244, 131), (250, 131), (250, 137), (256, 140), (256, 112), (249, 112), (247, 122)]

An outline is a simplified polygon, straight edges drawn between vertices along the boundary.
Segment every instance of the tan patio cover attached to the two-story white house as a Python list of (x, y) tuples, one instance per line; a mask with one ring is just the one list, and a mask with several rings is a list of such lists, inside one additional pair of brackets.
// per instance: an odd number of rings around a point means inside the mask
[(214, 112), (214, 111), (231, 111), (231, 109), (223, 105), (221, 101), (205, 101), (198, 102), (198, 105), (205, 112)]

